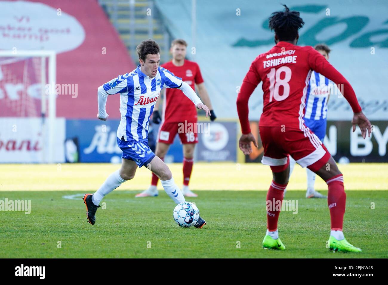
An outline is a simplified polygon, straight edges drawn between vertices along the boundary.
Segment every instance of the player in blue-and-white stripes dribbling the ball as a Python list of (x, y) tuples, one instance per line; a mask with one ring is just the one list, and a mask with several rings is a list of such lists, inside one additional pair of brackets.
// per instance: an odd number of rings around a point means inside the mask
[[(97, 117), (105, 121), (108, 114), (105, 105), (108, 95), (120, 94), (121, 121), (117, 129), (117, 143), (123, 151), (121, 168), (112, 173), (101, 187), (92, 194), (85, 194), (88, 222), (94, 225), (95, 212), (102, 198), (135, 176), (137, 167), (147, 166), (161, 180), (167, 195), (176, 204), (185, 202), (182, 192), (172, 178), (168, 166), (148, 146), (150, 116), (162, 88), (178, 88), (198, 109), (210, 116), (209, 108), (202, 104), (194, 90), (182, 78), (159, 67), (159, 45), (153, 40), (142, 41), (136, 48), (140, 65), (131, 73), (118, 76), (98, 88)], [(206, 222), (199, 217), (196, 225), (202, 228)]]

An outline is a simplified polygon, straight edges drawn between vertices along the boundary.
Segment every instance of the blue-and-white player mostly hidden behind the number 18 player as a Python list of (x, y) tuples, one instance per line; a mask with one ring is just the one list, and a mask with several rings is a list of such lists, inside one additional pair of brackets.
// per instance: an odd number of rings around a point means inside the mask
[[(315, 50), (320, 52), (327, 60), (329, 60), (330, 48), (325, 44), (318, 44)], [(323, 142), (326, 134), (326, 116), (327, 102), (329, 96), (333, 92), (334, 83), (322, 74), (312, 71), (310, 82), (307, 86), (307, 97), (305, 116), (305, 126), (312, 130), (315, 135)], [(290, 157), (290, 176), (294, 169), (295, 161)], [(307, 171), (307, 192), (306, 198), (326, 198), (325, 195), (315, 191), (315, 173), (306, 168)]]

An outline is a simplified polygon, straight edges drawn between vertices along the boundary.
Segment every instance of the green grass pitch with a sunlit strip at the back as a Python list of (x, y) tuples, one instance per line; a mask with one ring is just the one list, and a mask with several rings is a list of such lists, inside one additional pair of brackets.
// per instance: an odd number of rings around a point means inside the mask
[[(170, 164), (178, 185), (181, 164)], [(387, 164), (340, 165), (347, 193), (344, 233), (361, 253), (326, 248), (330, 218), (326, 199), (305, 199), (305, 171), (296, 167), (285, 200), (298, 201), (298, 214), (282, 211), (279, 234), (286, 250), (262, 249), (265, 197), (271, 181), (261, 164), (194, 164), (191, 188), (208, 225), (180, 228), (175, 204), (159, 197), (135, 198), (150, 182), (147, 169), (102, 202), (94, 226), (81, 197), (93, 193), (119, 165), (0, 165), (0, 200), (31, 200), (31, 213), (0, 211), (1, 258), (71, 257), (249, 257), (387, 258)], [(159, 183), (160, 184), (160, 183)], [(160, 188), (161, 189), (161, 188)], [(317, 178), (316, 189), (327, 193)], [(213, 191), (212, 191), (213, 190)], [(215, 191), (217, 190), (217, 191)], [(67, 199), (67, 198), (71, 199)]]

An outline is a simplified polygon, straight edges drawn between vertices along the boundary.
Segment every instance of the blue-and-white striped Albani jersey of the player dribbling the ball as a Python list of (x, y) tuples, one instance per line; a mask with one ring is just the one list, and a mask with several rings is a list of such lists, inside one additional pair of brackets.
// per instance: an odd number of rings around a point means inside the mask
[(117, 137), (128, 141), (144, 140), (148, 136), (148, 125), (160, 91), (165, 88), (179, 88), (182, 78), (174, 76), (160, 67), (156, 76), (142, 73), (140, 65), (131, 73), (118, 76), (103, 85), (109, 95), (120, 93), (121, 121)]

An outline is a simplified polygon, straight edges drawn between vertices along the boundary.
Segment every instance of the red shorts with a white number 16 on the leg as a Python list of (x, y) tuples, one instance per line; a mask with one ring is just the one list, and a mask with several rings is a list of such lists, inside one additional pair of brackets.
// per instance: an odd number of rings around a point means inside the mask
[(197, 119), (182, 121), (181, 123), (163, 122), (158, 132), (158, 142), (171, 144), (175, 135), (179, 135), (180, 141), (186, 143), (198, 143)]

